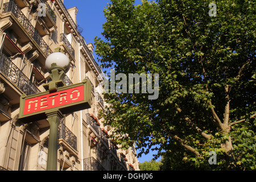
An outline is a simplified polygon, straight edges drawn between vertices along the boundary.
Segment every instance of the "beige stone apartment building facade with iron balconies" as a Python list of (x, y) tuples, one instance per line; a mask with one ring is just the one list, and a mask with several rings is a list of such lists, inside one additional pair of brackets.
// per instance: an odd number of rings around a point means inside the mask
[(65, 114), (60, 123), (57, 169), (139, 170), (135, 147), (122, 150), (102, 124), (102, 69), (77, 28), (77, 13), (61, 0), (0, 1), (0, 170), (46, 170), (49, 123), (19, 121), (19, 102), (22, 94), (45, 91), (45, 61), (56, 48), (71, 60), (65, 85), (84, 78), (92, 84), (91, 108)]

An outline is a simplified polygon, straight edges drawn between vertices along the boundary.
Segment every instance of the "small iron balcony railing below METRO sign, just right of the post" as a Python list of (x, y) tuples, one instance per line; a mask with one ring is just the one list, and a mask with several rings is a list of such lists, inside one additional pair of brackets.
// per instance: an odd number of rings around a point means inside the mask
[(72, 148), (77, 150), (77, 138), (63, 123), (59, 126), (59, 139), (64, 139)]

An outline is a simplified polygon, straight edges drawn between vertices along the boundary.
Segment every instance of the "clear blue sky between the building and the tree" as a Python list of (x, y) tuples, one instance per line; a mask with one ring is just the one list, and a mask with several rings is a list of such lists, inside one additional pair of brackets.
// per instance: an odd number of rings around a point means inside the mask
[[(102, 24), (105, 23), (106, 19), (104, 16), (104, 7), (110, 3), (109, 0), (64, 0), (64, 5), (67, 9), (71, 7), (77, 7), (79, 12), (77, 13), (77, 24), (83, 28), (82, 36), (84, 36), (86, 43), (93, 43), (95, 36), (102, 37), (101, 32)], [(135, 4), (141, 3), (141, 0), (136, 0)], [(95, 49), (95, 47), (94, 47)], [(97, 60), (97, 56), (94, 53), (94, 57)], [(150, 161), (154, 152), (143, 155), (138, 158), (140, 163), (144, 161)]]

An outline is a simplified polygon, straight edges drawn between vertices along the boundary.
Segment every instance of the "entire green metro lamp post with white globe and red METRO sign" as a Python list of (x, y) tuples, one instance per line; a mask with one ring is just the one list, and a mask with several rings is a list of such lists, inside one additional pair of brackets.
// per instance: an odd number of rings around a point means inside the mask
[[(58, 50), (56, 50), (58, 51)], [(49, 142), (47, 171), (57, 170), (58, 127), (63, 114), (89, 109), (92, 85), (88, 79), (66, 86), (63, 82), (70, 61), (62, 52), (54, 52), (46, 59), (46, 69), (51, 81), (43, 84), (46, 92), (20, 97), (19, 119), (23, 123), (48, 119)]]

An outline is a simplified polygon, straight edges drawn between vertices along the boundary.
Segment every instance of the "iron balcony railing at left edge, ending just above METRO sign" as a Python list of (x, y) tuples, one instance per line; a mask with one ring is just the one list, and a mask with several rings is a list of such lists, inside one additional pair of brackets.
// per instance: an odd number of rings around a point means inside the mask
[(28, 79), (22, 71), (6, 56), (0, 55), (0, 72), (13, 82), (27, 96), (39, 93), (40, 90)]

